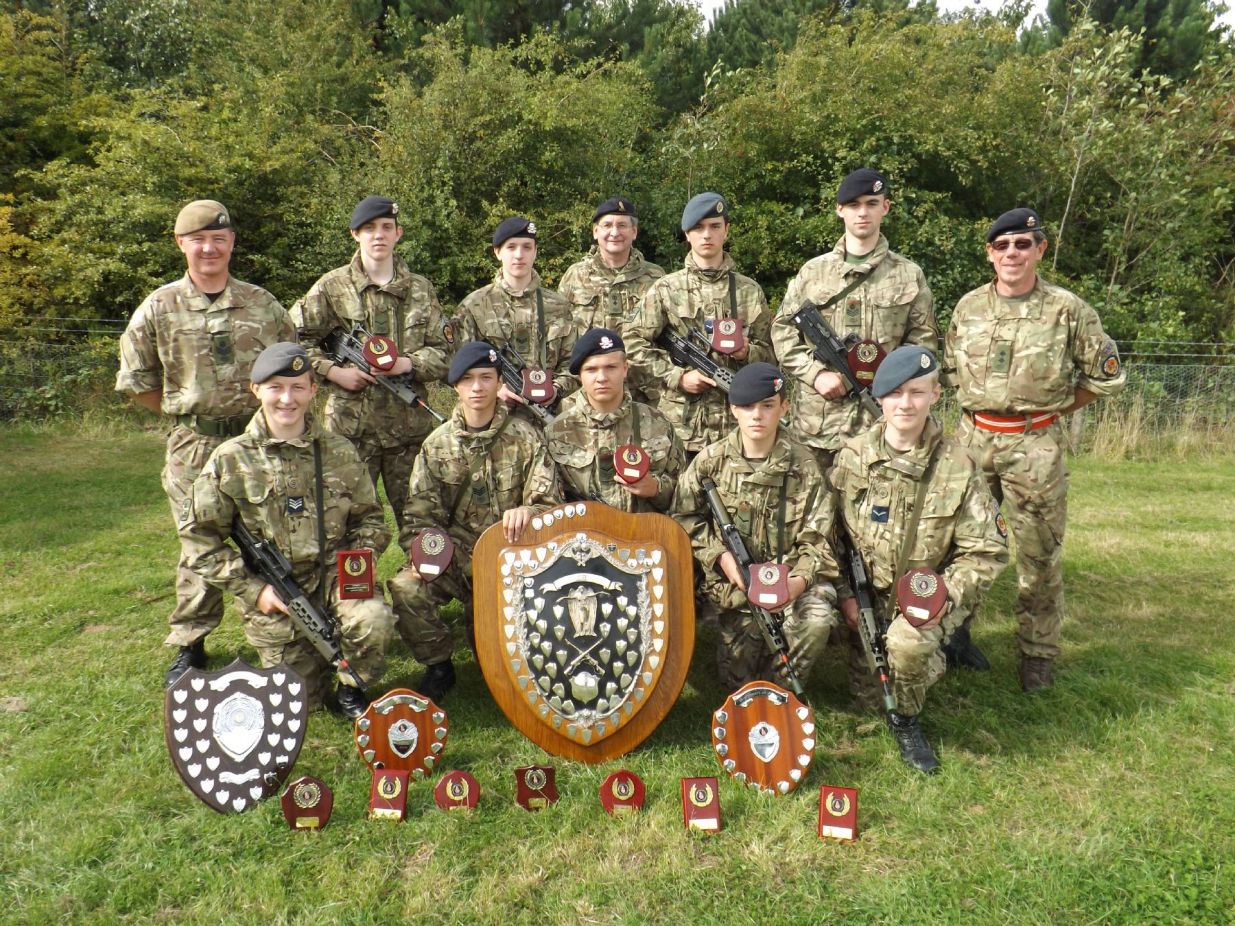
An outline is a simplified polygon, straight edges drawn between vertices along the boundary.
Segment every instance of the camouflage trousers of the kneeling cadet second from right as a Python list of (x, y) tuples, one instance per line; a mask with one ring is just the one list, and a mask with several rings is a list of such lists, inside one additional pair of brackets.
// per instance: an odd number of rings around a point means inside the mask
[[(830, 585), (814, 585), (784, 609), (782, 632), (789, 647), (789, 664), (805, 683), (815, 661), (827, 646), (840, 617), (832, 607)], [(777, 661), (763, 640), (758, 621), (746, 609), (721, 607), (716, 619), (716, 675), (732, 691), (762, 679), (784, 684)]]

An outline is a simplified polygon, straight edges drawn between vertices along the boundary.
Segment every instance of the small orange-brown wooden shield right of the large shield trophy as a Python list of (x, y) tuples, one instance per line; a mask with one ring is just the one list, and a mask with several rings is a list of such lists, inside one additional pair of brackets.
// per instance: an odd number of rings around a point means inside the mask
[(815, 752), (810, 707), (771, 682), (734, 691), (713, 715), (711, 743), (730, 777), (766, 794), (788, 794)]

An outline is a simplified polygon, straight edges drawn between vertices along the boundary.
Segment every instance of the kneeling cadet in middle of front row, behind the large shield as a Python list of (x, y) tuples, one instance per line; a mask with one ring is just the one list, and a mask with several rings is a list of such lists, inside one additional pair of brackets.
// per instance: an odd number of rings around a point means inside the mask
[[(620, 511), (668, 511), (685, 451), (661, 412), (626, 393), (630, 363), (621, 337), (609, 328), (584, 332), (574, 342), (569, 370), (582, 389), (545, 428), (566, 496), (599, 498)], [(614, 453), (627, 444), (648, 457), (647, 474), (636, 482), (622, 479), (614, 465)]]

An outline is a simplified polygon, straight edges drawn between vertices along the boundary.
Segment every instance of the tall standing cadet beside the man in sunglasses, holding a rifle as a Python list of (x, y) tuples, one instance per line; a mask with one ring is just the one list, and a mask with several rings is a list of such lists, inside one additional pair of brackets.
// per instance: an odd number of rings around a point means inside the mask
[(900, 344), (939, 349), (926, 277), (913, 261), (890, 251), (879, 231), (889, 209), (888, 181), (877, 170), (862, 168), (841, 180), (836, 215), (845, 222), (845, 235), (830, 252), (803, 265), (772, 322), (777, 358), (799, 380), (793, 425), (825, 469), (841, 444), (873, 419), (857, 399), (845, 398), (840, 374), (811, 356), (813, 344), (792, 321), (794, 312), (804, 302), (827, 306), (823, 316), (837, 337), (855, 333), (887, 353)]

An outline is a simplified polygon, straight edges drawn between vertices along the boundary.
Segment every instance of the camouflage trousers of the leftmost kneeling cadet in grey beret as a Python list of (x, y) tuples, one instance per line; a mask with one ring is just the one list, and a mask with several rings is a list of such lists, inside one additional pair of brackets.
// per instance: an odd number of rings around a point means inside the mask
[[(338, 646), (347, 664), (356, 669), (364, 684), (372, 684), (385, 673), (385, 651), (394, 630), (394, 615), (380, 596), (341, 600), (336, 575), (331, 570), (327, 578), (330, 609), (338, 624)], [(245, 621), (245, 638), (257, 649), (262, 667), (269, 668), (285, 662), (304, 677), (309, 710), (321, 707), (330, 691), (330, 678), (335, 669), (309, 637), (296, 630), (285, 614), (264, 615), (242, 606), (241, 617)], [(338, 677), (338, 683), (356, 684), (346, 672)]]

